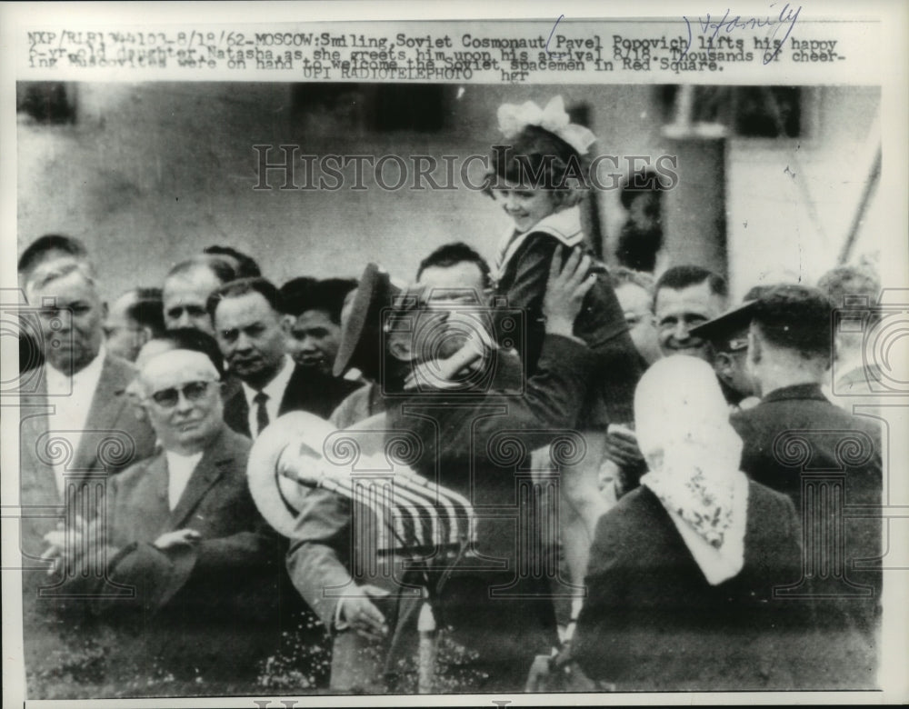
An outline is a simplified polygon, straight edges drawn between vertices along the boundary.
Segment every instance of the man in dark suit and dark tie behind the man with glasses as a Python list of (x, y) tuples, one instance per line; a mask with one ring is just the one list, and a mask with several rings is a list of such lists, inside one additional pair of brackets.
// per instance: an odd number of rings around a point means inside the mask
[(255, 438), (288, 411), (328, 418), (360, 384), (307, 371), (286, 353), (293, 318), (282, 314), (281, 295), (265, 278), (241, 278), (215, 290), (208, 313), (230, 373), (242, 384), (225, 401), (225, 421)]

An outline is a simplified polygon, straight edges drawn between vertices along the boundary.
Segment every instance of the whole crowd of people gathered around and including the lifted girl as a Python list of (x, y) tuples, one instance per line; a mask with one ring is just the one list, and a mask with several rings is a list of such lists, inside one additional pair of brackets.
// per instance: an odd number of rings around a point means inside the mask
[[(881, 502), (874, 367), (831, 329), (874, 275), (733, 305), (699, 265), (604, 265), (564, 179), (591, 136), (504, 138), (493, 265), (279, 287), (211, 246), (108, 306), (77, 239), (25, 248), (30, 696), (86, 634), (115, 681), (209, 694), (298, 634), (330, 671), (291, 694), (876, 686), (881, 526), (844, 512)], [(326, 474), (337, 432), (388, 467)]]

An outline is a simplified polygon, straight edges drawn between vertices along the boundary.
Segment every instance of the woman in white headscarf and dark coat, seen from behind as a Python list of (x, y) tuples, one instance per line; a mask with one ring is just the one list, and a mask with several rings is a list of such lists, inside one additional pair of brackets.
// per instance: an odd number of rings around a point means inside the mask
[(649, 472), (597, 524), (574, 660), (618, 690), (798, 686), (810, 609), (773, 592), (800, 580), (800, 527), (739, 471), (713, 370), (655, 363), (634, 416)]

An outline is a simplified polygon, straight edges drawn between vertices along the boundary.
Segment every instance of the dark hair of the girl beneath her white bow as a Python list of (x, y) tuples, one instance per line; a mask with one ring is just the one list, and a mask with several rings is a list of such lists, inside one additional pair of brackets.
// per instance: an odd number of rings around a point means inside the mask
[(489, 163), (483, 191), (490, 196), (505, 181), (550, 190), (562, 200), (576, 188), (588, 186), (587, 165), (581, 155), (539, 125), (525, 125), (510, 142), (494, 145)]

